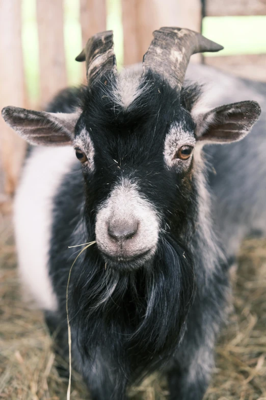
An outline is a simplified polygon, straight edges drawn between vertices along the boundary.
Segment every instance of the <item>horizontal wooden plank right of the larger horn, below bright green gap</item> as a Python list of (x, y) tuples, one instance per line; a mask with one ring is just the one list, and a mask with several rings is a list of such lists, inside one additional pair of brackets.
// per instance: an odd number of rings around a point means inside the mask
[(266, 54), (204, 57), (204, 63), (243, 78), (266, 82)]

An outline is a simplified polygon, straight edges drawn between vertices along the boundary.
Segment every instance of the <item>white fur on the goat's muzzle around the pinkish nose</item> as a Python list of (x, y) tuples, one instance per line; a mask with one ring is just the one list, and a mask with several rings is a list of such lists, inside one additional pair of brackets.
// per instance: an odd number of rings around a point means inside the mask
[(108, 236), (109, 221), (116, 220), (123, 225), (131, 218), (138, 220), (138, 230), (136, 235), (124, 244), (123, 255), (131, 257), (148, 250), (154, 252), (159, 233), (158, 213), (139, 192), (136, 183), (122, 178), (99, 208), (96, 217), (96, 242), (104, 253), (117, 256), (119, 251), (119, 245)]

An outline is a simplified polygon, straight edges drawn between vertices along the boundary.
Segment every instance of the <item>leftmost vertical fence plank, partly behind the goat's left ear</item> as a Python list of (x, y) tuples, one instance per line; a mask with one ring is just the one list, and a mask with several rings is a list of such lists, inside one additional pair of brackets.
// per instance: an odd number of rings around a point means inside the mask
[[(25, 89), (21, 47), (21, 1), (0, 0), (0, 109), (7, 105), (25, 106)], [(0, 117), (0, 158), (2, 164), (1, 198), (3, 191), (13, 194), (21, 163), (25, 153), (25, 142)], [(4, 171), (4, 174), (3, 174)]]

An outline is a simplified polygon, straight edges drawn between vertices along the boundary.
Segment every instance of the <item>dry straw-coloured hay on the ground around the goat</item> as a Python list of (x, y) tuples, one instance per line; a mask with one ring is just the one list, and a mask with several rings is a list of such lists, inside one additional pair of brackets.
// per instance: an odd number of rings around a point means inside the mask
[[(0, 219), (0, 399), (65, 400), (67, 379), (57, 372), (42, 313), (21, 301), (10, 221)], [(244, 243), (233, 294), (205, 400), (266, 400), (266, 240)], [(132, 400), (164, 400), (167, 394), (157, 375), (130, 391)], [(71, 399), (88, 399), (74, 371)]]

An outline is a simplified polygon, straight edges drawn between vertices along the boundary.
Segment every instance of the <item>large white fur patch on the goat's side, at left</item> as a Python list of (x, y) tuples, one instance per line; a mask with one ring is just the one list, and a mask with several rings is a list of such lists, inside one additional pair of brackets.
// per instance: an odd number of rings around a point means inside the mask
[(38, 147), (26, 161), (14, 202), (19, 274), (30, 297), (44, 310), (56, 310), (57, 299), (48, 274), (52, 200), (71, 169), (71, 147)]

